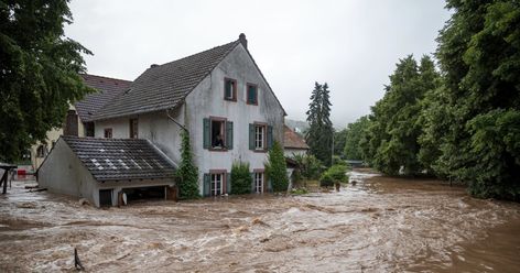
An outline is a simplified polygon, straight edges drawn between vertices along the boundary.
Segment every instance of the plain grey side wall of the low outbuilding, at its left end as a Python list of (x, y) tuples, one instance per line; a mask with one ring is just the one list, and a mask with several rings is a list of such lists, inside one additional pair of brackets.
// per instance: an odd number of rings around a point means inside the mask
[(93, 203), (97, 197), (94, 195), (97, 182), (63, 139), (56, 142), (40, 167), (37, 183), (51, 193), (83, 197)]

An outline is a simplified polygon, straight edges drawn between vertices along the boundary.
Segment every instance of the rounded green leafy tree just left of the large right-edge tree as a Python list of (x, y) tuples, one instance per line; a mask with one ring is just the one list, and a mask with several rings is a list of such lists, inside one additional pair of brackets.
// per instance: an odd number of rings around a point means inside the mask
[(418, 159), (422, 133), (420, 122), (424, 95), (438, 86), (438, 73), (429, 56), (418, 65), (410, 55), (397, 64), (384, 97), (372, 107), (368, 128), (370, 163), (379, 171), (413, 175), (423, 170)]

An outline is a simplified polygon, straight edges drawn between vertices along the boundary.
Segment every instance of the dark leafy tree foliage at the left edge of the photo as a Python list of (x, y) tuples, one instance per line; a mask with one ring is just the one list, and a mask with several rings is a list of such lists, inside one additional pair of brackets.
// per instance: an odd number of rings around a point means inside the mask
[(61, 128), (69, 103), (90, 88), (82, 53), (65, 37), (68, 1), (0, 2), (0, 161), (15, 161), (52, 128)]

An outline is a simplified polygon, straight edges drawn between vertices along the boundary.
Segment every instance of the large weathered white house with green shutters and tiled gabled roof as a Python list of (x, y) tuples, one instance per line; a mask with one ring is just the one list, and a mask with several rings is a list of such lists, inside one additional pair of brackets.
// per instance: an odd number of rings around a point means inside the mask
[(250, 164), (253, 192), (270, 189), (264, 162), (274, 141), (283, 145), (284, 116), (240, 34), (237, 41), (151, 65), (90, 121), (95, 138), (145, 139), (176, 163), (186, 129), (199, 193), (217, 196), (230, 192), (236, 161)]

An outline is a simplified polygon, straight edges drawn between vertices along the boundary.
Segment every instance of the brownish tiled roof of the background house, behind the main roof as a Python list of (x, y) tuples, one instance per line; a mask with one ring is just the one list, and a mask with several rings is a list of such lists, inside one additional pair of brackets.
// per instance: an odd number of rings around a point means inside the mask
[(130, 88), (132, 81), (95, 76), (89, 74), (80, 75), (88, 87), (97, 92), (85, 96), (84, 99), (77, 101), (74, 106), (82, 121), (91, 121), (94, 114), (107, 105), (115, 97), (121, 95)]

